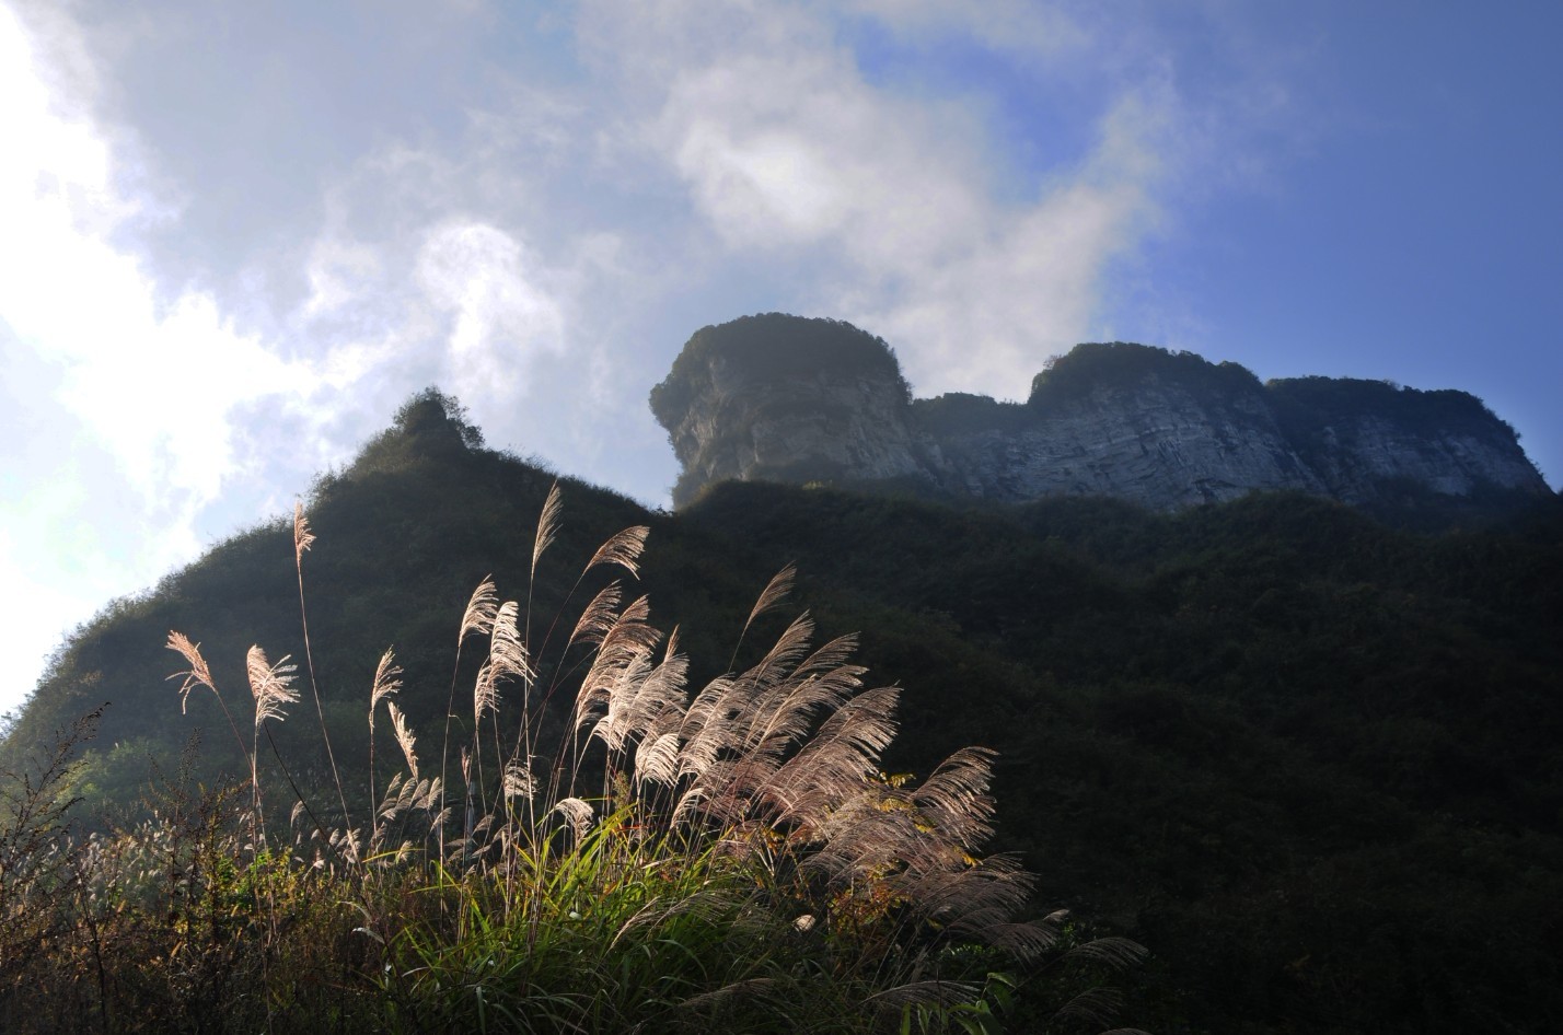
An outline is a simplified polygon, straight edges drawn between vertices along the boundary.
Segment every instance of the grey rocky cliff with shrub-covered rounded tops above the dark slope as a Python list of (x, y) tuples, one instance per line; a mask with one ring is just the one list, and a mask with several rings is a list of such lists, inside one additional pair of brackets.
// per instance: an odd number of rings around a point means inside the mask
[(911, 400), (894, 355), (847, 324), (769, 314), (703, 328), (652, 405), (683, 475), (919, 483), (1032, 500), (1105, 494), (1155, 510), (1255, 489), (1350, 503), (1405, 492), (1547, 496), (1513, 430), (1465, 392), (1297, 378), (1146, 346), (1078, 346), (1025, 403)]

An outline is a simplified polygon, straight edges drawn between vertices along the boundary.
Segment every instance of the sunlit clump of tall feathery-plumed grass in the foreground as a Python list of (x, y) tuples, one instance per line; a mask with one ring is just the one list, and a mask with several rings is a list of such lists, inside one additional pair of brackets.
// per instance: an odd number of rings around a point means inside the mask
[[(200, 647), (170, 633), (181, 694), (217, 696), (247, 779), (200, 788), (184, 771), (150, 819), (73, 841), (63, 740), (0, 832), (0, 1024), (993, 1032), (1038, 968), (1139, 958), (1122, 940), (1061, 946), (1061, 915), (1018, 919), (1033, 877), (978, 854), (993, 833), (991, 752), (960, 750), (922, 782), (882, 772), (899, 689), (864, 685), (855, 638), (816, 647), (802, 614), (753, 664), (691, 691), (677, 633), (650, 622), (646, 597), (589, 585), (636, 575), (644, 527), (596, 552), (569, 635), (533, 649), (531, 580), (560, 516), (555, 488), (525, 602), (485, 578), (461, 616), (456, 674), (469, 639), (486, 654), (470, 707), (456, 708), (452, 679), (439, 772), (425, 772), (394, 700), (403, 674), (381, 657), (366, 827), (352, 825), (334, 755), (327, 793), (342, 824), (328, 827), (275, 750), (269, 722), (299, 702), (288, 658), (250, 649), (245, 740)], [(306, 624), (314, 536), (302, 511), (294, 528)], [(742, 636), (791, 577), (763, 589)], [(383, 793), (381, 705), (405, 763)], [(284, 833), (267, 804), (289, 799)], [(16, 926), (42, 896), (53, 919)], [(1089, 987), (1057, 1016), (1105, 1022), (1110, 1004)]]

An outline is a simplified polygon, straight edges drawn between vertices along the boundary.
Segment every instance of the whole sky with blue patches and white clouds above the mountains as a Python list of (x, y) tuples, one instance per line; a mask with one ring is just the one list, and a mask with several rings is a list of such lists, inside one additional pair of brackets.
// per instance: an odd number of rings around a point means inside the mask
[(1557, 3), (0, 0), (9, 682), (414, 391), (652, 505), (699, 327), (919, 396), (1124, 339), (1461, 388), (1563, 480)]

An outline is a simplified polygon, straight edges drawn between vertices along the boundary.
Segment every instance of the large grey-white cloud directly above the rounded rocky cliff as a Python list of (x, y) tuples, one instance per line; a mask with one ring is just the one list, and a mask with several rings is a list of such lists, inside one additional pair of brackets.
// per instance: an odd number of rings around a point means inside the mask
[[(1177, 116), (1169, 91), (1124, 88), (1094, 147), (1016, 195), (989, 170), (1019, 159), (980, 106), (869, 81), (814, 8), (722, 9), (747, 20), (721, 48), (699, 42), (702, 11), (678, 5), (611, 30), (617, 47), (656, 50), (627, 64), (664, 81), (638, 77), (633, 89), (660, 98), (647, 139), (699, 216), (733, 253), (811, 269), (803, 297), (886, 336), (919, 391), (1024, 396), (1046, 355), (1088, 335), (1110, 264), (1155, 225)], [(907, 31), (958, 23), (983, 41), (1024, 16), (1011, 5), (858, 9)], [(1043, 61), (1060, 41), (1082, 45), (1071, 23), (1035, 11), (1007, 47)]]

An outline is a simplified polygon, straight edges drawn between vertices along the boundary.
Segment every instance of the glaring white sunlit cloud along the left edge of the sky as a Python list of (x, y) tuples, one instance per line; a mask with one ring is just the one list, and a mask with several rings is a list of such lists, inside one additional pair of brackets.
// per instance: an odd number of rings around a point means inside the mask
[(317, 378), (208, 294), (158, 300), (125, 242), (167, 210), (136, 191), (133, 141), (92, 117), (75, 27), (30, 14), (0, 8), (0, 353), (28, 377), (6, 386), (28, 408), (28, 430), (8, 413), (6, 435), (28, 442), (0, 460), (0, 511), (8, 588), (28, 600), (19, 649), (42, 655), (194, 558), (200, 513), (253, 461), (234, 413)]

